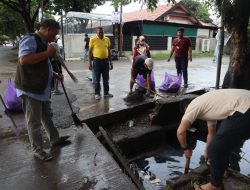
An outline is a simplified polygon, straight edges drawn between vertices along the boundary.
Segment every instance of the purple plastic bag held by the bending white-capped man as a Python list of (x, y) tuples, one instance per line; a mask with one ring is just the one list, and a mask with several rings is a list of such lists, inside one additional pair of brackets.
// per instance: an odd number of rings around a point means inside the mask
[[(143, 92), (146, 93), (146, 88), (147, 88), (147, 84), (146, 84), (146, 79), (143, 78), (143, 75), (138, 74), (136, 76), (136, 84), (135, 84), (135, 90), (138, 90), (139, 92)], [(138, 83), (138, 84), (137, 84)], [(151, 82), (150, 82), (150, 87), (152, 91), (155, 91), (155, 77), (154, 77), (154, 72), (151, 72)]]

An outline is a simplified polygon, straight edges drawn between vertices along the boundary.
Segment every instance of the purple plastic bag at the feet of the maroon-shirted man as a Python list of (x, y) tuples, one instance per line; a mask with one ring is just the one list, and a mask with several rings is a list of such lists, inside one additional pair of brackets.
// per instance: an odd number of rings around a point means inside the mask
[(163, 91), (163, 92), (176, 93), (180, 89), (181, 83), (182, 83), (182, 76), (181, 75), (176, 76), (176, 75), (168, 74), (166, 72), (164, 81), (162, 82), (161, 86), (159, 87), (159, 90)]

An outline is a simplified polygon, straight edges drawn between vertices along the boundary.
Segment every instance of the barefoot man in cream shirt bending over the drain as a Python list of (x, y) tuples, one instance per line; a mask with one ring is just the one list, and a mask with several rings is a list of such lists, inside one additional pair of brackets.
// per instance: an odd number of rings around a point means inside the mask
[[(186, 158), (192, 156), (192, 150), (187, 147), (186, 132), (196, 119), (207, 121), (204, 156), (210, 162), (211, 182), (196, 186), (195, 190), (220, 190), (230, 153), (239, 143), (250, 138), (250, 91), (214, 90), (195, 98), (187, 106), (177, 130), (177, 138)], [(216, 132), (217, 120), (222, 122)]]

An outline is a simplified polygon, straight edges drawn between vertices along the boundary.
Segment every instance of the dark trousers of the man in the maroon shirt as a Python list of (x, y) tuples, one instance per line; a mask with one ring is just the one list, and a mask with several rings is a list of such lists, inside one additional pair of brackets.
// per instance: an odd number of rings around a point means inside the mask
[(188, 67), (188, 58), (179, 58), (175, 57), (175, 66), (177, 69), (177, 75), (182, 75), (184, 84), (188, 83), (188, 73), (187, 73), (187, 67)]

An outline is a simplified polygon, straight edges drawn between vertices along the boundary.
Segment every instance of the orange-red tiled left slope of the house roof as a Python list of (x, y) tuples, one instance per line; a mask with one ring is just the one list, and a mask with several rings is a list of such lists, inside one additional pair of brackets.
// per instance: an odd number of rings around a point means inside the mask
[(159, 5), (155, 10), (150, 11), (148, 9), (142, 9), (139, 11), (134, 11), (130, 13), (123, 13), (122, 19), (123, 22), (129, 22), (134, 20), (150, 20), (155, 21), (158, 17), (164, 14), (166, 11), (171, 9), (173, 5), (171, 3), (167, 3), (164, 5)]

